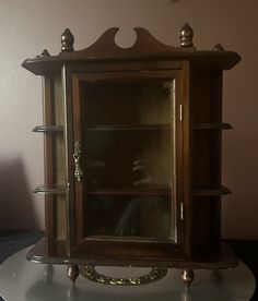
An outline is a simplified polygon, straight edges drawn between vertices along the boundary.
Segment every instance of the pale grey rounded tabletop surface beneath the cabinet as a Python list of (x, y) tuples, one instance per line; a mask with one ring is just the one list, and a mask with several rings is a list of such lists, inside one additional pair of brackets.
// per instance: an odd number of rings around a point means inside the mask
[[(54, 265), (52, 277), (47, 277), (47, 265), (25, 260), (28, 249), (0, 266), (0, 294), (7, 301), (248, 301), (255, 291), (255, 278), (243, 263), (219, 274), (196, 270), (196, 280), (188, 291), (177, 269), (168, 270), (162, 280), (139, 287), (98, 285), (81, 276), (72, 286), (66, 266)], [(108, 267), (103, 267), (102, 273), (105, 269), (108, 274)]]

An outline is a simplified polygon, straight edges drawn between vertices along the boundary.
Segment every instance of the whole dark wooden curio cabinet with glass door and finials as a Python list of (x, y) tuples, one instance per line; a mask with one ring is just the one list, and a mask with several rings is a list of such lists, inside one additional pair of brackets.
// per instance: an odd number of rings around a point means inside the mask
[[(222, 72), (239, 60), (199, 51), (192, 29), (165, 46), (136, 28), (131, 48), (110, 28), (74, 51), (47, 50), (23, 67), (44, 79), (46, 238), (28, 260), (69, 265), (195, 268), (237, 260), (221, 243)], [(187, 280), (189, 279), (190, 280)]]

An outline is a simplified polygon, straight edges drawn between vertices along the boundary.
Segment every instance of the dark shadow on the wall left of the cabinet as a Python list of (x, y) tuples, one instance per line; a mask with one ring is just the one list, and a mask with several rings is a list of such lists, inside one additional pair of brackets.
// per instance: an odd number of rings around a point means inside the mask
[(38, 229), (23, 162), (0, 161), (0, 229)]

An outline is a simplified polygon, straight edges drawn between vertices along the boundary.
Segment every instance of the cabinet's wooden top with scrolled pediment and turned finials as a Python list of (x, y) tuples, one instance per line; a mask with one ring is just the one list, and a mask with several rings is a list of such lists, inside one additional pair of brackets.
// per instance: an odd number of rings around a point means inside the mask
[(60, 70), (63, 64), (83, 61), (188, 60), (198, 67), (221, 70), (231, 69), (241, 61), (238, 53), (225, 51), (220, 44), (212, 50), (197, 50), (192, 43), (194, 31), (188, 24), (180, 29), (178, 47), (160, 43), (144, 28), (133, 29), (137, 38), (132, 47), (119, 47), (115, 41), (119, 28), (112, 27), (89, 48), (74, 51), (74, 37), (67, 28), (61, 35), (62, 47), (58, 56), (50, 56), (45, 49), (42, 55), (26, 59), (22, 67), (37, 75), (44, 75)]

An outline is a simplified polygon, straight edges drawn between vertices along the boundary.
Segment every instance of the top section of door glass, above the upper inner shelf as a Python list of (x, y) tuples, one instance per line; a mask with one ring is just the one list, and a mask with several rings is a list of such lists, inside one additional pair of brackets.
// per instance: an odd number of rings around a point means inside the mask
[(168, 83), (98, 82), (82, 86), (86, 125), (171, 123)]

